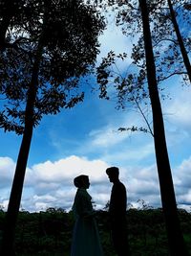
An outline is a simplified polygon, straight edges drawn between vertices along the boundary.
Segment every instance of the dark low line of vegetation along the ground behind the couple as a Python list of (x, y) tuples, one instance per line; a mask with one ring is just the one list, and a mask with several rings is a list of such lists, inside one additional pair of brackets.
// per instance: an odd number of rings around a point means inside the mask
[[(184, 240), (191, 253), (191, 213), (179, 209)], [(129, 209), (127, 211), (129, 243), (132, 256), (169, 255), (163, 213), (160, 208)], [(0, 235), (5, 212), (0, 211)], [(110, 241), (108, 212), (96, 211), (101, 243), (105, 256), (115, 256)], [(62, 208), (30, 213), (20, 211), (16, 225), (15, 251), (18, 256), (70, 255), (74, 216)]]

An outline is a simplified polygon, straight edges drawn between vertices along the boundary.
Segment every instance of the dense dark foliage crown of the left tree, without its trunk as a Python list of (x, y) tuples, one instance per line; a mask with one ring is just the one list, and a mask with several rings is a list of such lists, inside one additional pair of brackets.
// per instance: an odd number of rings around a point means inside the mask
[(93, 70), (105, 24), (96, 9), (78, 0), (12, 0), (11, 5), (15, 12), (0, 1), (0, 29), (6, 31), (0, 32), (0, 127), (21, 134), (31, 86), (36, 87), (34, 127), (44, 114), (83, 101), (80, 78)]

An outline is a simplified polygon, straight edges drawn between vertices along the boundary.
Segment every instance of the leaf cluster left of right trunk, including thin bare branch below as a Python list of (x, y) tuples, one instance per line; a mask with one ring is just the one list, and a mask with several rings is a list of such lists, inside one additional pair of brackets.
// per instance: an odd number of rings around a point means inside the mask
[[(138, 69), (134, 63), (127, 62), (127, 54), (116, 55), (110, 51), (107, 57), (102, 58), (101, 63), (96, 68), (96, 80), (99, 84), (99, 97), (110, 100), (114, 97), (114, 89), (117, 95), (117, 108), (125, 109), (133, 107), (143, 117), (147, 128), (118, 128), (119, 131), (143, 131), (153, 135), (151, 125), (149, 123), (148, 103), (149, 93), (145, 86), (146, 73), (143, 68)], [(119, 65), (127, 62), (127, 72), (119, 70)], [(115, 97), (116, 99), (116, 97)]]

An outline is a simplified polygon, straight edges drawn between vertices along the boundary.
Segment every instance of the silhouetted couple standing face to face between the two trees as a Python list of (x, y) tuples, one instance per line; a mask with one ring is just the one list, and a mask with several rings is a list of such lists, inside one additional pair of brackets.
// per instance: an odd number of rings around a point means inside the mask
[[(118, 256), (129, 256), (126, 230), (127, 196), (125, 186), (120, 182), (117, 167), (106, 170), (110, 182), (113, 183), (110, 198), (109, 215), (112, 242)], [(77, 188), (74, 198), (74, 232), (71, 256), (103, 256), (99, 239), (91, 196), (87, 189), (90, 187), (88, 175), (74, 178)]]

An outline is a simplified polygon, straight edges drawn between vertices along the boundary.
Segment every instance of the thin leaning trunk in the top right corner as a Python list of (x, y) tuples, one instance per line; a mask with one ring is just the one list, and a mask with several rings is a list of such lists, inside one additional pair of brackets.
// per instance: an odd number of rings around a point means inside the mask
[(190, 65), (190, 61), (189, 61), (187, 52), (185, 50), (182, 37), (180, 35), (179, 25), (177, 23), (175, 12), (173, 10), (173, 6), (172, 6), (172, 3), (171, 3), (170, 0), (168, 0), (168, 6), (169, 6), (169, 9), (170, 9), (172, 23), (173, 23), (173, 26), (174, 26), (174, 29), (175, 29), (175, 32), (176, 32), (176, 35), (177, 35), (177, 38), (178, 38), (178, 41), (179, 41), (181, 56), (183, 58), (184, 65), (185, 65), (185, 68), (187, 70), (188, 78), (189, 78), (189, 80), (191, 82), (191, 65)]

